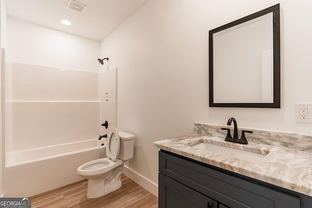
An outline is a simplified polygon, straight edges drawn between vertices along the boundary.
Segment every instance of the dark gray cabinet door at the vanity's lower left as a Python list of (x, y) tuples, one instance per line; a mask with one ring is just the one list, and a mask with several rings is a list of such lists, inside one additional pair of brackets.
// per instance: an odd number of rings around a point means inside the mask
[(158, 173), (159, 208), (217, 208), (213, 199)]

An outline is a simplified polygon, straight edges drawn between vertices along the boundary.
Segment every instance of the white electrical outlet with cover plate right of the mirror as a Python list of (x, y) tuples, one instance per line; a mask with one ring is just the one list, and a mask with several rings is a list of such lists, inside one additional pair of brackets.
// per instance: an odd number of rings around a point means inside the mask
[(312, 114), (309, 115), (309, 108), (312, 111), (312, 103), (295, 103), (295, 123), (312, 123)]

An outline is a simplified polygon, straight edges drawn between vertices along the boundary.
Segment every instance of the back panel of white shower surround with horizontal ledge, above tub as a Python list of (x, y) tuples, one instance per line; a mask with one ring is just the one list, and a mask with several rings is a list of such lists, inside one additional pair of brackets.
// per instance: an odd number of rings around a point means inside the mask
[(7, 152), (97, 138), (97, 73), (7, 63)]

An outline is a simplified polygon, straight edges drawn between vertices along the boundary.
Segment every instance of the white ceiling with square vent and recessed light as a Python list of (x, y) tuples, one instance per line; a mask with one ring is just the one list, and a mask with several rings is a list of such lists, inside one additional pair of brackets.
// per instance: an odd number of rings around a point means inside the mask
[(101, 41), (148, 0), (75, 0), (87, 6), (83, 13), (66, 8), (68, 1), (5, 0), (5, 7), (8, 17)]

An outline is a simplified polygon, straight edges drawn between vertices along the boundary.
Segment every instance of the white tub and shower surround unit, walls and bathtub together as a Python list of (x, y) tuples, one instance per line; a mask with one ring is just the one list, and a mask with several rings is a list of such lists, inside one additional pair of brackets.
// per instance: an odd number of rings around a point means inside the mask
[[(116, 79), (117, 68), (94, 73), (6, 62), (5, 197), (32, 196), (82, 180), (77, 167), (104, 157), (97, 138), (107, 132), (100, 126), (105, 120), (116, 126)], [(48, 149), (55, 153), (38, 153)]]

